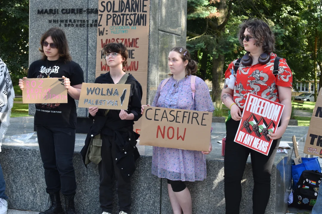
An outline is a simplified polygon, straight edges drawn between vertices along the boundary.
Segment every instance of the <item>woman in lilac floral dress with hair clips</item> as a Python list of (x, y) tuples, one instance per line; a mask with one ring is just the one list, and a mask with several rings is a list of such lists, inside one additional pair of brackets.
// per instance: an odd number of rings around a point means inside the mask
[[(184, 47), (174, 47), (169, 53), (168, 65), (171, 77), (162, 89), (165, 80), (159, 84), (152, 106), (213, 112), (208, 86), (199, 77), (195, 80), (193, 98), (190, 81), (191, 75), (197, 72), (197, 63), (190, 58), (189, 51)], [(143, 109), (144, 106), (141, 113)], [(191, 195), (184, 181), (202, 181), (206, 178), (205, 155), (211, 150), (211, 142), (206, 152), (153, 147), (152, 174), (167, 179), (174, 214), (181, 214), (182, 211), (184, 214), (192, 213)]]

